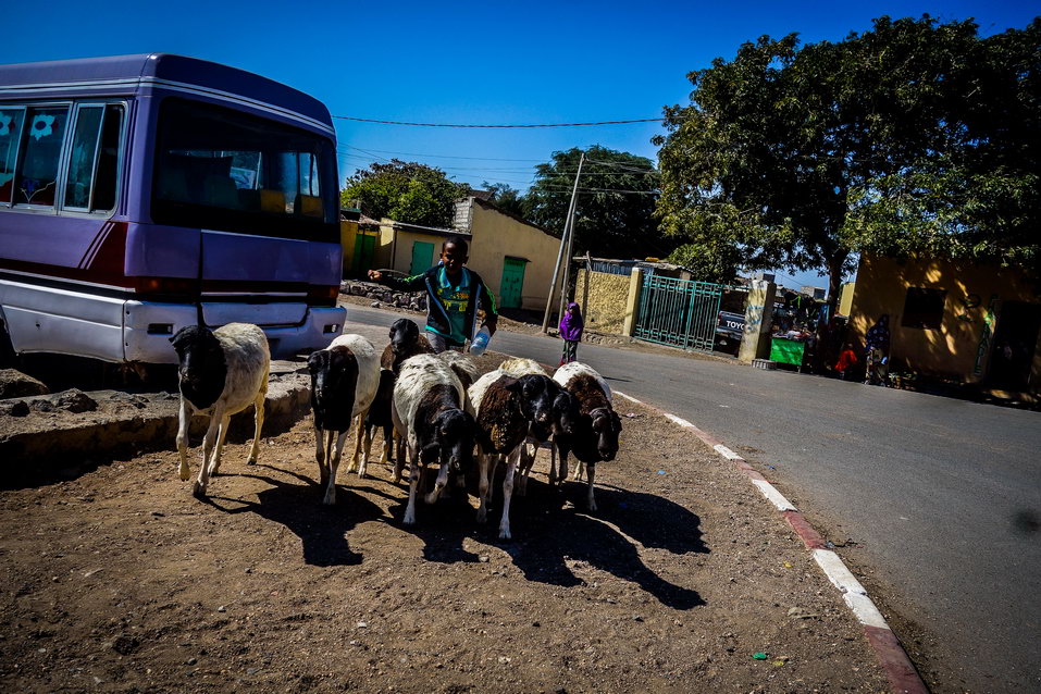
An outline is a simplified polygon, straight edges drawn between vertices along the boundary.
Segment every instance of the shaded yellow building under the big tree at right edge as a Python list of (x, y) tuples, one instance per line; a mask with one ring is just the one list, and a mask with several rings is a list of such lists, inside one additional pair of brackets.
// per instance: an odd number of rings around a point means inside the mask
[(1039, 286), (1015, 269), (865, 255), (850, 339), (890, 317), (891, 370), (1041, 394)]

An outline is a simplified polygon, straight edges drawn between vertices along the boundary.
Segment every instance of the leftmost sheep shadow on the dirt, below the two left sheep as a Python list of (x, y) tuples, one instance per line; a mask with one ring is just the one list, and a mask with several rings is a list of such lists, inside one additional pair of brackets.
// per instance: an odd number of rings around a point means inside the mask
[[(293, 475), (303, 484), (284, 482), (263, 474), (245, 473), (240, 476), (271, 485), (257, 495), (256, 501), (219, 496), (201, 500), (225, 513), (257, 513), (263, 519), (285, 525), (300, 538), (305, 563), (317, 567), (361, 563), (362, 555), (351, 550), (347, 533), (361, 523), (382, 518), (383, 509), (364, 496), (339, 485), (336, 491), (336, 505), (325, 506), (322, 504), (324, 487), (320, 487), (311, 479), (271, 466), (258, 467)], [(236, 506), (225, 508), (218, 504), (219, 500)]]

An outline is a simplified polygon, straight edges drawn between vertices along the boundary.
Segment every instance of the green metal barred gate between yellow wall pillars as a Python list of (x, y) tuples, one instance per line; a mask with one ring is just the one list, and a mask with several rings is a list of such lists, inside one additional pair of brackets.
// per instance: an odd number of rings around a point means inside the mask
[(646, 275), (633, 336), (650, 343), (711, 351), (723, 290), (709, 282)]

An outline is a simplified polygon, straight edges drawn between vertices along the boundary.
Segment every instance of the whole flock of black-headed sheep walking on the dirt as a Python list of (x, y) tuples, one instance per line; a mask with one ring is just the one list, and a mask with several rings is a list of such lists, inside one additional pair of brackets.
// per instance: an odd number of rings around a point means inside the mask
[[(394, 481), (409, 461), (409, 497), (404, 523), (416, 523), (417, 497), (427, 466), (438, 466), (433, 488), (423, 496), (436, 503), (449, 484), (466, 486), (474, 462), (479, 473), (476, 520), (485, 522), (489, 481), (505, 461), (499, 537), (510, 538), (509, 509), (515, 480), (523, 495), (541, 444), (550, 442), (549, 483), (568, 474), (568, 455), (578, 460), (574, 480), (584, 471), (587, 503), (596, 509), (593, 481), (596, 463), (618, 453), (621, 421), (611, 408), (611, 392), (586, 364), (571, 362), (549, 374), (531, 359), (509, 359), (480, 375), (470, 358), (454, 351), (433, 354), (419, 327), (408, 319), (394, 323), (382, 354), (361, 335), (340, 335), (308, 358), (314, 457), (325, 504), (336, 501), (336, 471), (344, 443), (356, 431), (348, 472), (365, 476), (373, 434), (383, 431), (382, 462), (388, 462), (392, 439)], [(221, 464), (221, 448), (233, 414), (250, 405), (256, 431), (247, 464), (257, 462), (263, 404), (268, 391), (268, 340), (256, 325), (231, 323), (215, 331), (189, 326), (171, 338), (179, 360), (181, 388), (177, 450), (181, 479), (188, 480), (187, 432), (193, 414), (210, 417), (202, 442), (202, 466), (193, 493), (205, 495), (209, 478)], [(405, 450), (402, 450), (405, 449)], [(557, 457), (559, 456), (559, 469)]]

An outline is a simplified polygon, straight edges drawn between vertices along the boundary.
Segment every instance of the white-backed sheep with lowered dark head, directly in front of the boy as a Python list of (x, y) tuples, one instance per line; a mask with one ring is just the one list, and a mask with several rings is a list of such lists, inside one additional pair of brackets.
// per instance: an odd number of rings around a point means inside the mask
[[(416, 494), (426, 464), (439, 462), (437, 481), (426, 495), (433, 504), (448, 483), (448, 473), (466, 474), (473, 455), (473, 418), (463, 410), (459, 377), (435, 355), (419, 355), (401, 363), (394, 384), (394, 427), (409, 451), (409, 498), (406, 525), (416, 523)], [(400, 479), (401, 461), (395, 461)]]

